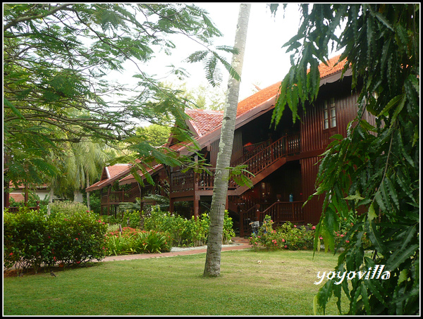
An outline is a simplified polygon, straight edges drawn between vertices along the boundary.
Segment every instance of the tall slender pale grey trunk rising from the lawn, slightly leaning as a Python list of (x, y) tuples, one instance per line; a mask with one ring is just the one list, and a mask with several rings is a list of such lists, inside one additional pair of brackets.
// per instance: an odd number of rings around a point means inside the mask
[[(238, 54), (234, 54), (232, 57), (232, 66), (238, 75), (241, 75), (243, 70), (250, 8), (251, 4), (240, 4), (234, 45), (238, 49)], [(229, 171), (226, 168), (231, 164), (233, 132), (235, 130), (239, 91), (240, 82), (233, 79), (233, 77), (229, 77), (228, 94), (226, 96), (226, 106), (221, 127), (219, 154), (216, 161), (212, 207), (210, 208), (209, 238), (207, 242), (206, 264), (204, 267), (204, 276), (206, 277), (217, 277), (220, 275), (223, 218), (225, 216), (229, 176)]]

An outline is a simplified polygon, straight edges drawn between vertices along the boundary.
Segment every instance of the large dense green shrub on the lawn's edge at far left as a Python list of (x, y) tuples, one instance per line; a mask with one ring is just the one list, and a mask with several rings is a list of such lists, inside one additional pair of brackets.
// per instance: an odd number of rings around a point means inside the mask
[(107, 225), (92, 212), (47, 215), (23, 207), (4, 213), (4, 266), (82, 265), (104, 258)]

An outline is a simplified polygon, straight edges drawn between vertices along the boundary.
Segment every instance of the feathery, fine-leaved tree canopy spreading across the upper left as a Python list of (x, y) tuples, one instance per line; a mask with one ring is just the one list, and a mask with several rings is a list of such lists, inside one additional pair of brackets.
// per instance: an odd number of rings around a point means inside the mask
[[(60, 143), (84, 138), (123, 140), (140, 121), (160, 121), (157, 114), (166, 114), (167, 120), (183, 128), (183, 108), (188, 102), (161, 87), (144, 69), (157, 51), (171, 54), (176, 49), (171, 35), (190, 37), (204, 46), (188, 60), (206, 61), (206, 75), (213, 84), (220, 77), (219, 63), (231, 70), (216, 52), (233, 49), (212, 46), (212, 38), (221, 32), (197, 6), (4, 4), (8, 179), (44, 182), (45, 175), (59, 173), (45, 155), (60, 155)], [(122, 87), (108, 77), (113, 70), (123, 72), (123, 63), (128, 61), (136, 70), (136, 88)], [(125, 99), (128, 92), (131, 97)], [(122, 101), (116, 101), (116, 96)]]

